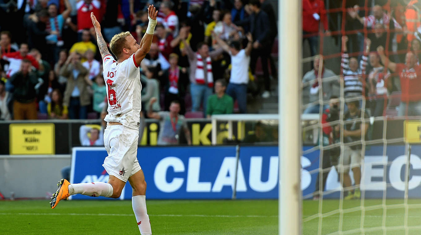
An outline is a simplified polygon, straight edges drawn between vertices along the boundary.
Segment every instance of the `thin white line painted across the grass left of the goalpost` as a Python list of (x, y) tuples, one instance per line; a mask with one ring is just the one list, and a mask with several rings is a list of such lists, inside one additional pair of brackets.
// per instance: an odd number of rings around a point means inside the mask
[[(78, 216), (133, 216), (134, 214), (78, 214), (78, 213), (0, 213), (0, 215), (78, 215)], [(205, 215), (205, 214), (149, 214), (149, 216), (162, 216), (162, 217), (253, 217), (253, 218), (268, 218), (268, 217), (278, 217), (274, 216), (265, 216), (265, 215)]]

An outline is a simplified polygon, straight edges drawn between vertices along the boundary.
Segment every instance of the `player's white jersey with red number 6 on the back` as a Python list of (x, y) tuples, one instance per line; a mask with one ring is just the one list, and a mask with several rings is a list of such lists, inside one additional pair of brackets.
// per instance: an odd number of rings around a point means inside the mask
[(108, 114), (104, 120), (120, 122), (125, 127), (139, 130), (142, 85), (134, 54), (121, 63), (107, 55), (102, 65), (108, 98)]

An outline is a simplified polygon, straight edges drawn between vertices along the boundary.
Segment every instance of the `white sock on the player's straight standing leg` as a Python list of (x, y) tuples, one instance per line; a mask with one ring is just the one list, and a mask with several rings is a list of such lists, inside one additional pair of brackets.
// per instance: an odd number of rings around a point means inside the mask
[(151, 222), (149, 215), (146, 210), (146, 196), (138, 195), (132, 197), (132, 207), (134, 215), (136, 216), (136, 222), (139, 226), (141, 235), (152, 235)]

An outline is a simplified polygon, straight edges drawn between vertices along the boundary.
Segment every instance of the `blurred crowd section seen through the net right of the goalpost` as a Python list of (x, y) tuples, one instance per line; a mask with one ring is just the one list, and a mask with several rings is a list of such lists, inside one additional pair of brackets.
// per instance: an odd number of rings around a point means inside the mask
[[(324, 2), (302, 0), (303, 42), (309, 42), (314, 56), (312, 70), (303, 77), (304, 113), (325, 111), (330, 98), (335, 96), (360, 97), (358, 106), (362, 108), (364, 100), (369, 116), (420, 116), (421, 22), (418, 16), (421, 3), (418, 0), (346, 1), (344, 14), (341, 11), (336, 17), (338, 11), (329, 10), (341, 9), (342, 2), (328, 1), (329, 8)], [(341, 60), (340, 69), (332, 68), (321, 60), (323, 55), (317, 55), (323, 54), (318, 53), (322, 48), (320, 37), (330, 36), (341, 45), (341, 57), (334, 57)], [(340, 82), (344, 84), (342, 93)], [(325, 101), (323, 107), (320, 100)], [(346, 111), (347, 106), (344, 108)]]

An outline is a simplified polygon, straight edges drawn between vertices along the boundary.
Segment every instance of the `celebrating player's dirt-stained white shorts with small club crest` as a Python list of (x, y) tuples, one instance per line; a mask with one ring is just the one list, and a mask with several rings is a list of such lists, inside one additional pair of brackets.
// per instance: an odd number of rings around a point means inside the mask
[(105, 170), (124, 182), (141, 170), (137, 160), (138, 130), (123, 125), (107, 126), (104, 131), (104, 145), (108, 156), (104, 160)]

